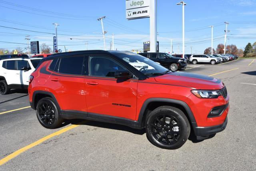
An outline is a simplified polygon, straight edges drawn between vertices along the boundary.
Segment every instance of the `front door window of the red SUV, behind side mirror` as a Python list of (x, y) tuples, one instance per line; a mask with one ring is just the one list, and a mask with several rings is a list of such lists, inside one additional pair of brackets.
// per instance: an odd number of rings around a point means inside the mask
[(114, 77), (118, 70), (125, 70), (113, 60), (104, 57), (90, 57), (90, 75), (99, 77)]

